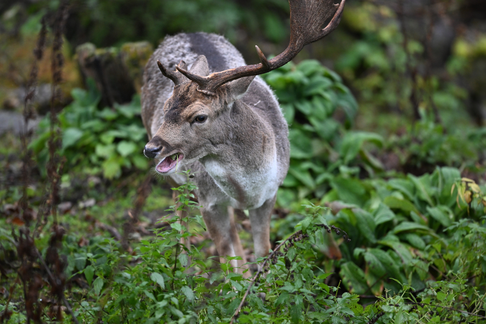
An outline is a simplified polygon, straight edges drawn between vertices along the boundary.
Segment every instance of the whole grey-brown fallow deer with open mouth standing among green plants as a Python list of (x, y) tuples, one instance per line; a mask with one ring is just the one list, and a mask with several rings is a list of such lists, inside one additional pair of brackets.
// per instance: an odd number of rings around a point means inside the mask
[[(260, 78), (290, 62), (302, 48), (330, 34), (346, 0), (289, 0), (290, 42), (260, 63), (246, 65), (223, 36), (166, 36), (147, 62), (141, 117), (149, 141), (143, 149), (155, 171), (177, 184), (191, 170), (203, 220), (221, 262), (246, 273), (246, 257), (234, 221), (247, 210), (254, 254), (270, 249), (270, 218), (290, 163), (288, 125), (278, 100)], [(322, 29), (324, 23), (329, 23)]]

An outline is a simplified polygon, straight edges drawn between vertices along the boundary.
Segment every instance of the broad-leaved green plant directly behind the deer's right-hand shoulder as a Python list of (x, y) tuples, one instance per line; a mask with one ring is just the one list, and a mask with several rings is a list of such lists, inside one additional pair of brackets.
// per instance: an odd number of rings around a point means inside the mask
[[(364, 143), (382, 145), (381, 136), (368, 132), (345, 131), (358, 109), (341, 78), (315, 60), (292, 62), (263, 75), (278, 97), (290, 125), (291, 160), (289, 174), (278, 193), (278, 203), (288, 206), (308, 196), (321, 198), (328, 181), (340, 168), (352, 167), (363, 156), (370, 168), (381, 164), (364, 148)], [(343, 125), (333, 118), (336, 109), (346, 116)], [(298, 197), (298, 198), (297, 198)]]

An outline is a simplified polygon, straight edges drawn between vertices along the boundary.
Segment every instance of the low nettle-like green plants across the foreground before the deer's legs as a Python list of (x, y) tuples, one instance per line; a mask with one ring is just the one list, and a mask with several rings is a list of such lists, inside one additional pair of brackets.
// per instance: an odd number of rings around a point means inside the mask
[[(188, 180), (190, 172), (186, 172)], [(73, 289), (77, 305), (75, 315), (85, 323), (486, 323), (485, 280), (481, 269), (474, 270), (472, 258), (485, 259), (485, 220), (453, 222), (454, 231), (447, 244), (435, 244), (435, 253), (423, 255), (424, 262), (453, 265), (444, 281), (430, 281), (415, 290), (401, 279), (398, 290), (383, 290), (375, 300), (366, 300), (330, 287), (325, 273), (315, 261), (323, 231), (343, 236), (343, 245), (351, 244), (347, 233), (328, 225), (327, 208), (304, 205), (307, 212), (295, 226), (296, 232), (279, 242), (265, 258), (256, 263), (260, 270), (245, 279), (234, 272), (230, 260), (205, 259), (200, 246), (188, 249), (191, 240), (204, 230), (200, 216), (181, 218), (177, 210), (188, 214), (197, 210), (191, 200), (194, 185), (179, 188), (178, 204), (154, 231), (154, 237), (142, 240), (129, 254), (104, 239), (68, 256), (68, 269), (84, 274), (89, 287)], [(181, 215), (179, 213), (179, 215)], [(184, 225), (187, 224), (187, 225)], [(437, 250), (438, 249), (438, 250)], [(88, 252), (89, 251), (89, 252)], [(438, 251), (438, 253), (437, 253)], [(460, 252), (460, 253), (459, 253)], [(485, 263), (486, 264), (486, 263)], [(449, 266), (448, 266), (449, 267)], [(263, 275), (265, 273), (265, 275)], [(475, 285), (471, 285), (473, 274)], [(397, 276), (400, 273), (388, 273)], [(406, 280), (406, 279), (405, 279)], [(371, 302), (371, 303), (370, 303)]]

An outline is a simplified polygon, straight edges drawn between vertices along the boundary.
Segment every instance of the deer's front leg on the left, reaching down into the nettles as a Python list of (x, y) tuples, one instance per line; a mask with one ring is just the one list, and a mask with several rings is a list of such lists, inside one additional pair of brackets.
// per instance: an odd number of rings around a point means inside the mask
[[(225, 256), (241, 256), (243, 260), (232, 260), (230, 262), (234, 268), (241, 268), (235, 269), (235, 272), (243, 273), (243, 268), (247, 269), (248, 267), (243, 267), (243, 264), (246, 263), (246, 257), (236, 229), (233, 208), (225, 205), (209, 205), (201, 208), (201, 213), (208, 227), (209, 235), (216, 244), (221, 262), (226, 262)], [(249, 275), (249, 272), (244, 274), (245, 277)]]

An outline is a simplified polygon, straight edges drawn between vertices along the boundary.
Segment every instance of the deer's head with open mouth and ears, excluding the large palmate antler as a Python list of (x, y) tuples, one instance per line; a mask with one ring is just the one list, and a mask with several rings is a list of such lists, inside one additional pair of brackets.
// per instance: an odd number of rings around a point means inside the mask
[[(179, 71), (168, 71), (161, 64), (162, 73), (174, 81), (172, 96), (164, 104), (164, 122), (145, 145), (144, 154), (159, 160), (156, 171), (170, 175), (181, 166), (211, 154), (214, 145), (225, 140), (233, 103), (246, 92), (254, 76), (240, 78), (208, 93), (198, 89)], [(184, 61), (177, 68), (187, 69)], [(208, 62), (199, 56), (189, 70), (206, 77)]]

